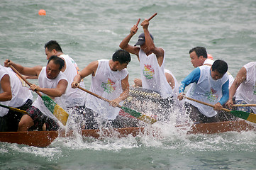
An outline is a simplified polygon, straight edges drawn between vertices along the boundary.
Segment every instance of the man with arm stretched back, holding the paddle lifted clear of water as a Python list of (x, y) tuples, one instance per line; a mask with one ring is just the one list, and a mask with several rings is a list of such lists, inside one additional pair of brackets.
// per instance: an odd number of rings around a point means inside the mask
[[(46, 67), (23, 67), (20, 64), (15, 64), (6, 60), (4, 62), (5, 67), (12, 65), (23, 75), (38, 77), (39, 86), (32, 84), (30, 89), (33, 91), (40, 91), (46, 94), (60, 106), (64, 106), (62, 101), (62, 95), (65, 94), (67, 89), (67, 78), (60, 72), (64, 67), (65, 62), (60, 57), (53, 55), (48, 60)], [(32, 106), (27, 110), (28, 115), (23, 115), (20, 123), (18, 124), (18, 131), (28, 130), (42, 130), (43, 124), (46, 125), (46, 130), (57, 130), (59, 125), (57, 118), (53, 115), (48, 108), (45, 106), (42, 98), (38, 96), (33, 102)]]

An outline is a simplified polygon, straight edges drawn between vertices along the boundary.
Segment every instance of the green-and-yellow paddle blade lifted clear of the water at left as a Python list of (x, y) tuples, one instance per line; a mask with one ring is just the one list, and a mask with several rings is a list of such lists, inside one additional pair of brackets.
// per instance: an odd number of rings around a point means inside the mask
[(55, 101), (52, 101), (52, 99), (48, 96), (42, 96), (43, 99), (43, 103), (45, 103), (46, 108), (49, 109), (49, 111), (55, 115), (55, 117), (60, 120), (60, 122), (63, 125), (66, 125), (67, 123), (67, 118), (69, 117), (69, 115), (67, 114), (67, 112), (61, 108), (59, 105), (57, 105), (57, 103), (55, 103)]

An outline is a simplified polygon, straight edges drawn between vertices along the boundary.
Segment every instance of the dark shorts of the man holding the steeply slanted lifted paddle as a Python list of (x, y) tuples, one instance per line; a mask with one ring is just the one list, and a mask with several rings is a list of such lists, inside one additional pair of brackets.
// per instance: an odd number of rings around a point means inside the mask
[(29, 130), (43, 130), (43, 124), (46, 125), (46, 130), (58, 130), (60, 126), (57, 124), (56, 120), (48, 118), (43, 114), (38, 108), (31, 106), (27, 110), (28, 115), (32, 118), (34, 125)]

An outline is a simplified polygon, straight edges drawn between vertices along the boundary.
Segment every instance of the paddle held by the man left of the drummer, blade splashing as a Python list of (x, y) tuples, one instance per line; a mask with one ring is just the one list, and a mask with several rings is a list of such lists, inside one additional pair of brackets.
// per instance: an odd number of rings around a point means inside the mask
[[(87, 90), (87, 89), (84, 89), (80, 86), (78, 86), (77, 88), (81, 89), (82, 91), (86, 91), (88, 94), (91, 94), (93, 96), (95, 96), (96, 98), (99, 98), (103, 101), (107, 101), (108, 103), (110, 103), (110, 101), (104, 97), (101, 97), (97, 94), (94, 94), (93, 92)], [(150, 123), (150, 124), (153, 124), (155, 123), (157, 120), (155, 118), (151, 118), (150, 116), (148, 115), (144, 115), (142, 113), (139, 113), (138, 111), (134, 111), (133, 109), (130, 109), (130, 108), (126, 108), (126, 107), (123, 107), (123, 106), (120, 106), (118, 105), (118, 108), (121, 108), (123, 111), (125, 111), (126, 113), (129, 113), (130, 115), (133, 115), (135, 118), (138, 118), (140, 120), (143, 120), (145, 123)]]

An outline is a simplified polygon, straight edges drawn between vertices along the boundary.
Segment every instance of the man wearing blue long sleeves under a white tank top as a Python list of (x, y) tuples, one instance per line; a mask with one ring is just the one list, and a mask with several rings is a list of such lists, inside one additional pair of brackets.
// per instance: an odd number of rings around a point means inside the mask
[(179, 86), (179, 100), (184, 98), (185, 87), (191, 83), (186, 96), (214, 105), (214, 108), (195, 101), (187, 100), (184, 105), (189, 117), (194, 123), (218, 122), (216, 111), (221, 111), (223, 104), (228, 101), (228, 64), (223, 60), (216, 60), (211, 67), (200, 66), (194, 69)]

